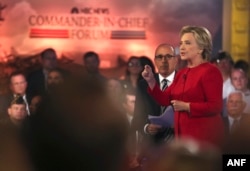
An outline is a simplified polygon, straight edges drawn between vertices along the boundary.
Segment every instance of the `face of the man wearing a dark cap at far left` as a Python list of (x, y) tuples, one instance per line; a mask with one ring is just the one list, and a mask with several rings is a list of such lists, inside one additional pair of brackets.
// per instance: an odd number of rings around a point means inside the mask
[(15, 120), (22, 120), (27, 116), (27, 110), (25, 104), (12, 104), (8, 108), (8, 114), (10, 118)]

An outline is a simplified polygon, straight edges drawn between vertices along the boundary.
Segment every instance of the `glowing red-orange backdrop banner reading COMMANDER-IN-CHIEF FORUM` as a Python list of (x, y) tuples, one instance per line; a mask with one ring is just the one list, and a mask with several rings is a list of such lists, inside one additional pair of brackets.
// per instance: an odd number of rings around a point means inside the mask
[(178, 47), (184, 25), (207, 27), (217, 51), (221, 1), (0, 0), (0, 62), (51, 47), (79, 64), (84, 52), (95, 51), (101, 67), (114, 67), (118, 58), (153, 58), (160, 43)]

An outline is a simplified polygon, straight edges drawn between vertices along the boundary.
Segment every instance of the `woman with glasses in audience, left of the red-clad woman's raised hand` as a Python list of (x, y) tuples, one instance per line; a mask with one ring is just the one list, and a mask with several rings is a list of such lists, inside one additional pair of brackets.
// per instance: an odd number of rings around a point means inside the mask
[(138, 81), (142, 79), (141, 72), (143, 70), (140, 58), (131, 56), (128, 59), (125, 78), (121, 80), (124, 89), (136, 90)]

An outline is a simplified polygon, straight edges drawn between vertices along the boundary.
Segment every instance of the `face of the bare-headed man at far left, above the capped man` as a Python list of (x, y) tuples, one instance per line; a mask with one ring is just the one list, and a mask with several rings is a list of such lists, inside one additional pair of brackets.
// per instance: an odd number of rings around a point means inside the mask
[(25, 77), (20, 75), (15, 75), (10, 80), (10, 89), (13, 94), (24, 95), (27, 88), (27, 81)]

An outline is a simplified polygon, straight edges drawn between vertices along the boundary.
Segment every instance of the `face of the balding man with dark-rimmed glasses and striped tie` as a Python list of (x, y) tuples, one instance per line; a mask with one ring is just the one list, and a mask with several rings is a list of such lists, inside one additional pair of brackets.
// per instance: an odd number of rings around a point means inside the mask
[[(164, 56), (164, 57), (162, 57), (162, 59), (159, 59), (157, 58), (157, 56)], [(169, 58), (165, 56), (169, 56)], [(162, 46), (156, 50), (154, 62), (156, 68), (158, 69), (158, 72), (162, 76), (167, 77), (175, 70), (178, 58), (174, 56), (174, 51), (171, 47)]]

